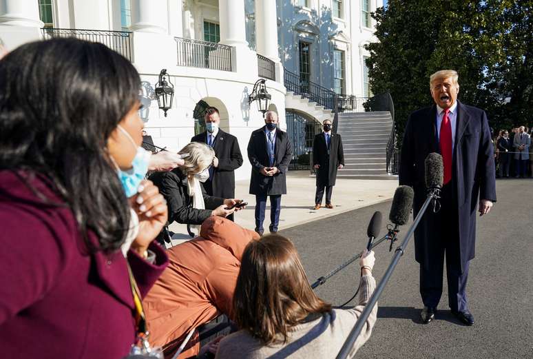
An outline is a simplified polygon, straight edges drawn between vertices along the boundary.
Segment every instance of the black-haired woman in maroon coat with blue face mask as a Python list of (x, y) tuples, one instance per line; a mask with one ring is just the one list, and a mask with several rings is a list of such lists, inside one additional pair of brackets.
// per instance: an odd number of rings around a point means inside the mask
[(119, 359), (135, 341), (127, 264), (141, 296), (167, 264), (151, 243), (167, 206), (139, 179), (139, 83), (76, 39), (0, 61), (1, 358)]

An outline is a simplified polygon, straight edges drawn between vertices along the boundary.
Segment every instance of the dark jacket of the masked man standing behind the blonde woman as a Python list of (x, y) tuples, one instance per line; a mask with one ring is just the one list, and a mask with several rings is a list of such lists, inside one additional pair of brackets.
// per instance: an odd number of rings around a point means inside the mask
[[(207, 144), (207, 131), (197, 134), (191, 142)], [(209, 178), (213, 185), (213, 196), (221, 198), (235, 197), (235, 173), (242, 166), (239, 142), (236, 136), (218, 129), (213, 143), (215, 156), (218, 158), (218, 167), (213, 169), (213, 178)]]

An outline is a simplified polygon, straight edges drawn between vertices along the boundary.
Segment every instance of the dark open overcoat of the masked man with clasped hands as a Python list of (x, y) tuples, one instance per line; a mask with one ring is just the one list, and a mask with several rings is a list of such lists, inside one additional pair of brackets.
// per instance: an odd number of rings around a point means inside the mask
[(263, 176), (260, 170), (270, 167), (269, 152), (266, 150), (265, 126), (251, 133), (248, 143), (248, 159), (252, 165), (250, 194), (286, 194), (286, 177), (293, 156), (291, 141), (286, 132), (279, 128), (275, 132), (275, 162), (280, 172), (274, 176)]

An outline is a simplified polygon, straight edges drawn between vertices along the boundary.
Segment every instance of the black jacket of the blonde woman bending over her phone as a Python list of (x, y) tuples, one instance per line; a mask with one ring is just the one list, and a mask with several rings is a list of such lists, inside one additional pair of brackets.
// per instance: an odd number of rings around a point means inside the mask
[(187, 225), (201, 225), (211, 216), (212, 209), (224, 204), (224, 198), (208, 196), (202, 188), (205, 209), (193, 208), (187, 188), (187, 176), (179, 167), (169, 172), (154, 172), (149, 176), (149, 180), (158, 187), (159, 193), (163, 194), (167, 201), (169, 223), (176, 220)]

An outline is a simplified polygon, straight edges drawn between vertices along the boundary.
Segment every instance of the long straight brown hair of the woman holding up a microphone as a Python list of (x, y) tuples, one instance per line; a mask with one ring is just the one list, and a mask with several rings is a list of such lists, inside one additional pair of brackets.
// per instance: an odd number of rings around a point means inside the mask
[(291, 327), (312, 313), (331, 311), (318, 298), (291, 240), (278, 234), (252, 240), (242, 255), (233, 314), (264, 345), (286, 342)]

